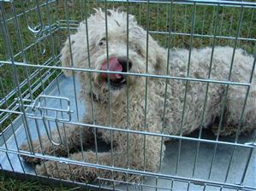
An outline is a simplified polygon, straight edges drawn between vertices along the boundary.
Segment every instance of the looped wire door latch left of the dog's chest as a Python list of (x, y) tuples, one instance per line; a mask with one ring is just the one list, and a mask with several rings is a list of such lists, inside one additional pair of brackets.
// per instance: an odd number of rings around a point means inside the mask
[(42, 119), (57, 121), (70, 121), (74, 113), (70, 109), (70, 100), (62, 96), (40, 95), (35, 100), (15, 98), (16, 105), (25, 107), (28, 115), (33, 115)]

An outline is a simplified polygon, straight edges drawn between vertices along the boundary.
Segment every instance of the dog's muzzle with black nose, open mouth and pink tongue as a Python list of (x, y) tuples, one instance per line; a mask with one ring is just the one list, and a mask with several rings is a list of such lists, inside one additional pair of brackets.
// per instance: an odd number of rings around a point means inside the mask
[[(107, 71), (108, 69), (112, 72), (128, 72), (133, 66), (132, 61), (128, 60), (127, 57), (111, 57), (109, 61), (104, 61), (101, 70)], [(112, 90), (117, 90), (126, 84), (125, 75), (120, 73), (104, 73), (100, 74), (101, 78), (104, 78), (108, 82), (108, 76), (110, 77), (110, 87)]]

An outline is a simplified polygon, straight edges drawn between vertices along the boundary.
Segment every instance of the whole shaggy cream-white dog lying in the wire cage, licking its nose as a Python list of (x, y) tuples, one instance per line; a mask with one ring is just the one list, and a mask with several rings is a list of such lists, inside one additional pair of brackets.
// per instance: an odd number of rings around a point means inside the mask
[[(67, 156), (68, 146), (74, 151), (70, 159), (85, 159), (89, 163), (134, 170), (158, 171), (158, 165), (164, 155), (164, 143), (159, 134), (187, 135), (199, 127), (209, 126), (217, 130), (217, 120), (221, 118), (222, 111), (222, 127), (219, 130), (221, 135), (255, 129), (255, 72), (248, 96), (247, 87), (237, 85), (249, 83), (253, 56), (247, 55), (242, 49), (236, 49), (234, 52), (230, 47), (192, 49), (191, 54), (186, 49), (170, 49), (168, 56), (168, 51), (161, 48), (150, 35), (146, 35), (142, 27), (137, 25), (134, 16), (129, 15), (128, 18), (128, 39), (126, 13), (110, 10), (107, 21), (106, 37), (105, 14), (98, 9), (88, 18), (87, 30), (86, 22), (81, 22), (78, 31), (70, 36), (70, 43), (68, 39), (62, 50), (61, 61), (64, 67), (71, 67), (73, 63), (73, 67), (102, 71), (109, 68), (112, 71), (110, 74), (76, 72), (80, 78), (81, 96), (86, 101), (87, 113), (83, 123), (146, 131), (152, 134), (148, 133), (145, 136), (141, 133), (128, 134), (126, 131), (118, 130), (111, 134), (110, 130), (98, 128), (95, 132), (98, 139), (107, 143), (112, 139), (114, 150), (113, 153), (109, 151), (96, 154), (90, 150), (79, 151), (80, 139), (85, 148), (90, 148), (94, 144), (92, 127), (66, 125), (67, 136), (64, 136), (61, 130), (63, 145), (53, 147), (45, 137), (42, 141), (43, 151), (39, 147), (39, 142), (33, 142), (36, 152), (55, 152), (58, 156)], [(169, 61), (167, 58), (170, 58)], [(143, 75), (126, 75), (126, 72), (165, 75), (178, 79), (146, 78)], [(69, 75), (71, 71), (66, 70), (64, 73)], [(186, 81), (184, 77), (195, 80)], [(214, 83), (202, 82), (201, 79), (211, 79)], [(236, 84), (229, 84), (227, 89), (227, 84), (220, 81)], [(246, 96), (247, 104), (240, 123)], [(53, 137), (56, 141), (59, 139), (57, 132)], [(27, 145), (23, 145), (22, 148), (28, 149)], [(28, 162), (41, 162), (35, 158), (25, 159)], [(52, 177), (74, 178), (76, 181), (86, 182), (94, 181), (97, 176), (126, 181), (138, 180), (135, 175), (127, 176), (121, 172), (113, 173), (53, 161), (46, 161), (45, 166), (36, 165), (36, 171)]]

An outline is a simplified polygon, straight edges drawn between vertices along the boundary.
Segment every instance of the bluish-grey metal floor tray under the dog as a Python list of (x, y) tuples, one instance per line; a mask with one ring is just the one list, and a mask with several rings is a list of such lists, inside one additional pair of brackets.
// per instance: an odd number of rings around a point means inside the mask
[[(81, 118), (82, 114), (85, 113), (85, 109), (83, 107), (83, 103), (80, 100), (78, 104), (75, 104), (74, 99), (74, 84), (76, 95), (79, 95), (79, 83), (74, 80), (73, 78), (65, 78), (60, 77), (58, 82), (54, 81), (48, 88), (45, 90), (45, 95), (49, 96), (63, 96), (68, 97), (70, 101), (70, 108), (74, 111), (71, 113), (72, 120), (77, 121), (77, 116)], [(63, 107), (66, 103), (63, 103), (60, 106), (60, 101), (56, 101), (54, 99), (47, 101), (46, 104), (49, 104), (51, 107)], [(77, 106), (77, 109), (76, 109)], [(76, 113), (78, 111), (78, 113)], [(29, 112), (29, 111), (28, 111)], [(39, 115), (39, 112), (35, 113)], [(51, 116), (51, 112), (48, 115)], [(64, 119), (68, 118), (68, 114), (63, 114), (62, 116)], [(31, 135), (33, 139), (38, 139), (38, 133), (36, 130), (36, 124), (34, 119), (27, 118), (27, 124), (29, 129), (31, 130)], [(38, 120), (39, 130), (41, 135), (45, 135), (45, 128), (43, 122)], [(52, 127), (54, 124), (51, 125)], [(15, 132), (15, 133), (13, 133)], [(255, 134), (255, 132), (254, 132)], [(198, 132), (194, 132), (191, 136), (198, 137)], [(252, 142), (253, 136), (241, 136), (239, 141), (240, 142)], [(17, 151), (18, 147), (21, 146), (23, 142), (26, 141), (26, 134), (24, 130), (24, 126), (22, 123), (21, 117), (15, 120), (13, 126), (9, 126), (7, 130), (3, 132), (3, 135), (0, 136), (0, 146), (2, 148), (12, 149)], [(209, 130), (203, 131), (203, 138), (215, 140), (216, 137), (211, 134)], [(222, 141), (225, 142), (234, 142), (234, 137), (221, 137)], [(195, 170), (193, 173), (193, 166), (194, 160), (196, 158), (198, 142), (188, 142), (182, 141), (181, 143), (181, 152), (180, 152), (180, 159), (179, 165), (176, 171), (177, 166), (177, 156), (179, 153), (179, 141), (169, 141), (165, 143), (166, 145), (166, 152), (164, 155), (164, 161), (161, 168), (160, 173), (165, 175), (171, 175), (176, 177), (185, 177), (191, 179), (201, 179), (201, 180), (208, 180), (211, 182), (224, 182), (226, 173), (229, 169), (229, 174), (226, 180), (226, 183), (234, 184), (241, 181), (242, 175), (247, 168), (247, 172), (245, 174), (243, 185), (247, 187), (256, 188), (256, 153), (255, 149), (253, 150), (252, 157), (247, 166), (247, 159), (253, 148), (244, 148), (244, 147), (237, 147), (235, 148), (233, 158), (229, 165), (229, 161), (232, 156), (233, 146), (231, 145), (217, 145), (215, 159), (212, 163), (211, 168), (211, 161), (214, 153), (215, 145), (212, 143), (203, 143), (201, 142), (199, 145), (199, 153), (197, 163), (195, 165)], [(99, 146), (100, 147), (100, 146)], [(21, 165), (22, 164), (22, 165)], [(14, 172), (21, 172), (24, 171), (28, 174), (34, 175), (33, 166), (27, 164), (22, 159), (20, 160), (15, 153), (4, 153), (0, 152), (0, 165), (2, 166), (3, 170), (6, 171), (14, 171)], [(23, 166), (23, 169), (22, 169)], [(209, 177), (209, 171), (211, 168), (211, 176)], [(208, 178), (209, 177), (209, 178)], [(156, 178), (149, 177), (144, 180), (143, 185), (129, 185), (128, 188), (130, 190), (156, 190)], [(110, 187), (112, 189), (112, 185), (107, 185), (106, 187)], [(213, 186), (204, 186), (199, 184), (194, 184), (193, 182), (188, 184), (187, 182), (178, 181), (171, 181), (170, 179), (162, 179), (158, 178), (158, 190), (220, 190), (220, 187), (213, 187)], [(116, 189), (127, 189), (126, 185), (116, 185)], [(223, 188), (223, 190), (233, 190), (232, 188)], [(234, 189), (235, 190), (235, 189)]]

